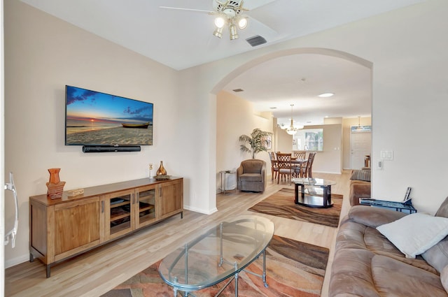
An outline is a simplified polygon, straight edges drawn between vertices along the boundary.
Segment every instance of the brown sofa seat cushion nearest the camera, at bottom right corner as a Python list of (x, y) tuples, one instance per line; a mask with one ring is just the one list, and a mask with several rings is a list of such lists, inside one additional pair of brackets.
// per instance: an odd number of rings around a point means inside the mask
[(435, 273), (380, 255), (372, 257), (371, 265), (380, 296), (447, 296)]

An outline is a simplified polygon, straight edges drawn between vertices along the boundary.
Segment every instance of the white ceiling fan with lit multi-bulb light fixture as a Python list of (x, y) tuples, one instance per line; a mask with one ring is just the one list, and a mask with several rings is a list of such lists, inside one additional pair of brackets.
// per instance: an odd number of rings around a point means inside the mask
[(160, 8), (190, 10), (200, 13), (208, 13), (209, 15), (215, 15), (216, 28), (213, 32), (214, 36), (221, 38), (223, 36), (223, 29), (225, 28), (225, 26), (228, 26), (230, 40), (235, 40), (239, 37), (237, 29), (245, 29), (248, 24), (248, 15), (243, 14), (243, 12), (248, 11), (248, 9), (244, 8), (243, 4), (244, 0), (214, 0), (214, 11), (169, 6), (160, 6)]

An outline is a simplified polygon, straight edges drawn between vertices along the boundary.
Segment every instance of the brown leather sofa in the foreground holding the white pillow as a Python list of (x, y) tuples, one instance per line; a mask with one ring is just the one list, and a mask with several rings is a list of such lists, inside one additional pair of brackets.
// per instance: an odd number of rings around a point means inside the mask
[[(409, 259), (376, 229), (405, 216), (384, 208), (351, 208), (337, 233), (330, 297), (448, 296), (448, 236)], [(448, 198), (435, 216), (448, 217)]]

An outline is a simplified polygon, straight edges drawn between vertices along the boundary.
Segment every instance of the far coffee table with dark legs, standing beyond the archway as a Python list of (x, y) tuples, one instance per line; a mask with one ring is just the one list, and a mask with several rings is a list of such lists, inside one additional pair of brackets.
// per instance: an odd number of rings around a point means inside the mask
[[(321, 178), (292, 178), (294, 182), (294, 203), (310, 208), (331, 208), (333, 203), (331, 202), (331, 186), (336, 184), (332, 180), (323, 180)], [(300, 186), (300, 195), (299, 195)], [(305, 193), (305, 186), (319, 187), (322, 189), (320, 192), (311, 191), (311, 187), (308, 189), (308, 193)]]

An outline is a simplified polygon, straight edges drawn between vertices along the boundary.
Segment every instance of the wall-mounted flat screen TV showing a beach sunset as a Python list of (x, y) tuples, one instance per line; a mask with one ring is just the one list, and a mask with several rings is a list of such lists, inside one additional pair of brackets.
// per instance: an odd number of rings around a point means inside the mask
[(153, 103), (65, 87), (65, 145), (153, 145)]

